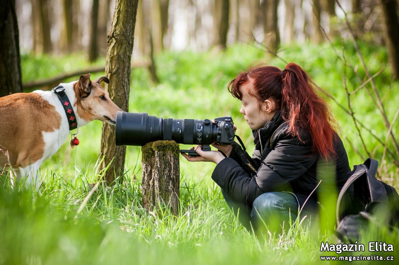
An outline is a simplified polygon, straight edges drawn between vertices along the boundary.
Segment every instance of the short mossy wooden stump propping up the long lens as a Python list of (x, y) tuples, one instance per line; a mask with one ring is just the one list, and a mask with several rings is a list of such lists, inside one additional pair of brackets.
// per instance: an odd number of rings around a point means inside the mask
[(167, 205), (172, 214), (178, 215), (179, 145), (175, 141), (155, 141), (147, 143), (141, 150), (143, 207), (150, 211)]

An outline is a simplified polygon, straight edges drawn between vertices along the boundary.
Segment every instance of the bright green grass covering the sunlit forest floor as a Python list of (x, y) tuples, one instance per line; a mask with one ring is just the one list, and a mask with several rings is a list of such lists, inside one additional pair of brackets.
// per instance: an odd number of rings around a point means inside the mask
[[(334, 44), (341, 51), (341, 43)], [(348, 63), (358, 65), (352, 43), (344, 43)], [(386, 49), (360, 43), (371, 74), (387, 62)], [(280, 56), (296, 62), (309, 72), (316, 84), (336, 97), (347, 107), (342, 82), (344, 65), (336, 58), (329, 44), (284, 47)], [(237, 134), (252, 152), (251, 131), (239, 113), (240, 101), (227, 92), (228, 82), (241, 70), (265, 58), (264, 52), (253, 46), (234, 45), (225, 53), (167, 52), (156, 57), (160, 84), (154, 86), (145, 69), (134, 69), (131, 74), (129, 111), (147, 112), (164, 118), (213, 119), (232, 116)], [(105, 64), (102, 58), (97, 65)], [(279, 59), (268, 62), (284, 67)], [(69, 65), (69, 66), (68, 66)], [(44, 79), (65, 71), (89, 66), (82, 55), (67, 57), (22, 56), (24, 82)], [(93, 74), (95, 79), (102, 73)], [(348, 90), (362, 82), (347, 69)], [(73, 79), (72, 79), (73, 80)], [(112, 80), (111, 80), (112, 82)], [(391, 80), (389, 67), (375, 84), (389, 121), (397, 110), (398, 82)], [(372, 104), (365, 88), (352, 98), (355, 116), (379, 138), (385, 140), (387, 129), (381, 115)], [(330, 101), (334, 117), (341, 126), (342, 138), (350, 164), (363, 161), (366, 156), (349, 115)], [(99, 121), (79, 129), (79, 146), (71, 149), (69, 141), (41, 166), (44, 178), (38, 195), (29, 190), (10, 189), (6, 177), (1, 178), (0, 190), (0, 263), (2, 264), (105, 264), (105, 263), (166, 263), (166, 264), (243, 264), (243, 263), (318, 263), (320, 242), (333, 240), (318, 222), (310, 227), (294, 228), (288, 234), (270, 239), (248, 232), (227, 208), (220, 189), (211, 180), (213, 163), (190, 163), (180, 160), (180, 216), (166, 210), (160, 214), (146, 212), (141, 206), (141, 152), (137, 146), (126, 150), (126, 171), (122, 184), (99, 187), (84, 199), (101, 179), (98, 172), (101, 141)], [(393, 128), (394, 134), (399, 127)], [(383, 146), (362, 131), (367, 147), (381, 161)], [(187, 149), (191, 146), (183, 146)], [(394, 152), (390, 145), (389, 148)], [(387, 161), (382, 177), (394, 178), (397, 187), (397, 168)], [(369, 233), (368, 236), (374, 235)], [(373, 238), (373, 237), (372, 237)], [(399, 246), (397, 235), (383, 234), (385, 242)], [(396, 253), (396, 252), (395, 252)], [(327, 253), (325, 253), (328, 255)], [(330, 253), (334, 255), (335, 253)], [(375, 254), (375, 253), (371, 253)], [(383, 253), (378, 253), (383, 254)], [(346, 253), (366, 255), (366, 253)], [(387, 255), (385, 253), (385, 255)]]

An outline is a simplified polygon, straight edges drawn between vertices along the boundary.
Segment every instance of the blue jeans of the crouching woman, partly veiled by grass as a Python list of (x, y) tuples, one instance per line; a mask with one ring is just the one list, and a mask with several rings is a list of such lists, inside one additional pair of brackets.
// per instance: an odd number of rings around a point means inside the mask
[[(222, 194), (229, 208), (236, 216), (239, 213), (239, 220), (249, 230), (252, 225), (257, 230), (267, 228), (271, 233), (279, 234), (283, 229), (290, 228), (290, 218), (293, 224), (298, 216), (298, 201), (292, 193), (277, 191), (263, 193), (255, 199), (251, 211), (246, 206), (236, 203), (223, 189)], [(307, 215), (307, 218), (310, 218), (310, 214), (312, 212), (302, 210), (300, 217)]]

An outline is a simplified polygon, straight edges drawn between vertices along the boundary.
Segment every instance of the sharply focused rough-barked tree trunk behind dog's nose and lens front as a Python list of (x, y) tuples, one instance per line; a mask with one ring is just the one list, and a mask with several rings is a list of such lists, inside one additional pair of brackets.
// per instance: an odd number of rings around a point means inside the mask
[[(130, 91), (130, 59), (133, 51), (134, 25), (138, 0), (116, 0), (111, 30), (108, 35), (105, 76), (111, 80), (105, 85), (111, 100), (128, 111)], [(101, 137), (100, 157), (104, 157), (101, 170), (111, 163), (104, 175), (109, 184), (124, 171), (126, 146), (115, 145), (115, 127), (105, 123)]]

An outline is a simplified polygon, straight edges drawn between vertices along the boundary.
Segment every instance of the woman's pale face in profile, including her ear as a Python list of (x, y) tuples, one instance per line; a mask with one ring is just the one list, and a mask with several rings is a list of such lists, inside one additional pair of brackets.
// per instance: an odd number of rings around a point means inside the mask
[[(249, 91), (251, 91), (252, 94), (255, 94), (252, 81), (249, 81), (240, 87), (240, 92), (243, 95), (241, 97), (242, 104), (240, 113), (244, 115), (244, 119), (252, 130), (258, 130), (271, 121), (276, 111), (273, 111), (273, 106), (270, 106), (270, 100), (266, 100), (269, 102), (262, 102), (259, 107), (258, 99), (250, 95), (248, 93)], [(274, 101), (272, 102), (272, 105), (275, 105), (273, 103)]]

